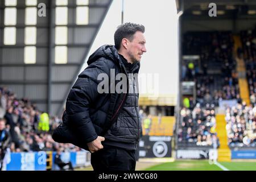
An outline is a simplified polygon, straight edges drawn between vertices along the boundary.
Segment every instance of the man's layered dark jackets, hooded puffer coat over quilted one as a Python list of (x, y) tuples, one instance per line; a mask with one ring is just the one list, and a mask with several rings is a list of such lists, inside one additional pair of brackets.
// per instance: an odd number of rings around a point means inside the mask
[[(89, 57), (88, 67), (69, 92), (65, 111), (68, 125), (75, 131), (80, 143), (91, 142), (104, 134), (103, 144), (135, 149), (140, 133), (138, 93), (128, 93), (127, 90), (126, 93), (100, 94), (97, 86), (102, 80), (97, 80), (97, 77), (106, 73), (110, 78), (110, 69), (114, 69), (115, 75), (127, 75), (127, 88), (137, 90), (136, 79), (128, 74), (138, 73), (139, 67), (138, 62), (128, 64), (110, 45), (98, 48)], [(115, 81), (115, 84), (118, 82)]]

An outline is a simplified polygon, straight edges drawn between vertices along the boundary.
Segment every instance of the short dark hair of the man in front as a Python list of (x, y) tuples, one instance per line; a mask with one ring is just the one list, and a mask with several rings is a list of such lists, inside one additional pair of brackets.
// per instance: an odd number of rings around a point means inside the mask
[(115, 48), (119, 50), (119, 48), (121, 47), (121, 42), (123, 38), (129, 39), (130, 41), (132, 41), (133, 35), (137, 31), (144, 33), (145, 27), (142, 24), (135, 24), (130, 22), (119, 25), (114, 34)]

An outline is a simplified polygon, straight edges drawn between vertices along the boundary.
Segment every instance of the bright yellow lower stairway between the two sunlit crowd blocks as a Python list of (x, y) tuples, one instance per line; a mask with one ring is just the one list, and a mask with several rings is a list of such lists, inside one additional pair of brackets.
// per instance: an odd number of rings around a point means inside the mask
[(218, 161), (230, 162), (231, 151), (228, 146), (228, 136), (226, 134), (226, 121), (224, 114), (216, 115), (216, 131), (220, 140), (220, 148), (218, 148)]

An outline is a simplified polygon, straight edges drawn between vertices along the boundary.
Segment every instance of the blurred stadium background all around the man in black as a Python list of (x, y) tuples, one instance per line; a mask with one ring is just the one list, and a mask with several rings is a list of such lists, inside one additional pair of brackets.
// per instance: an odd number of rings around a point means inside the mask
[(0, 0), (1, 169), (92, 169), (51, 134), (88, 57), (125, 22), (147, 40), (137, 169), (256, 170), (250, 0)]

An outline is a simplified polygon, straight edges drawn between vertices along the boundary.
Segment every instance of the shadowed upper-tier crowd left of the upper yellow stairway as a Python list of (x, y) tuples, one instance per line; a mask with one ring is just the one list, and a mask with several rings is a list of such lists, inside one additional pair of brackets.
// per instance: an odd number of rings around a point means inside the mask
[[(183, 81), (196, 82), (196, 102), (201, 105), (218, 106), (218, 100), (241, 102), (233, 44), (231, 32), (187, 32), (184, 35), (184, 55), (200, 55), (200, 61), (184, 61), (181, 76)], [(209, 63), (216, 63), (216, 68), (221, 70), (218, 77), (208, 74)]]

